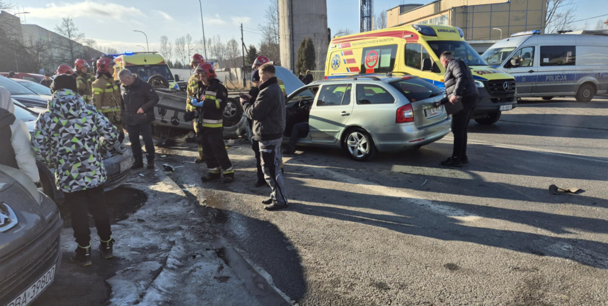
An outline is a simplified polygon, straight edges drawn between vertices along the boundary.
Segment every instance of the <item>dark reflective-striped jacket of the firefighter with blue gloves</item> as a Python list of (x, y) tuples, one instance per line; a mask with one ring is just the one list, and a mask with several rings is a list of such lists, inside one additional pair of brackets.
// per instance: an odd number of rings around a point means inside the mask
[(228, 90), (218, 79), (211, 79), (209, 86), (198, 82), (196, 97), (203, 101), (202, 116), (199, 112), (199, 124), (204, 129), (223, 127), (224, 108), (228, 101)]

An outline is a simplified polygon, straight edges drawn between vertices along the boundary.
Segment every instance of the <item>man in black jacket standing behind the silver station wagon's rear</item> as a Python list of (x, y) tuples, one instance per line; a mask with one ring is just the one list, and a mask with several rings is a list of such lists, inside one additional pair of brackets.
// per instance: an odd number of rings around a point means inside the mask
[(454, 58), (450, 52), (441, 53), (440, 61), (446, 68), (443, 84), (446, 86), (449, 103), (462, 103), (463, 106), (460, 112), (452, 115), (452, 132), (454, 133), (452, 157), (441, 161), (441, 165), (460, 167), (463, 163), (469, 162), (469, 158), (466, 156), (466, 130), (477, 100), (479, 100), (479, 93), (471, 69), (464, 61)]

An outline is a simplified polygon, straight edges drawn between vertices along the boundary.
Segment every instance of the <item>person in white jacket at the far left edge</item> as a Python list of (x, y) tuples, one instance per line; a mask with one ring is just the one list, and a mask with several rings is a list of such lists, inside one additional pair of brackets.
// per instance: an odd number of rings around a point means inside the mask
[[(26, 123), (15, 117), (9, 90), (0, 86), (0, 164), (26, 172), (38, 185), (40, 175)], [(10, 146), (8, 145), (10, 144)]]

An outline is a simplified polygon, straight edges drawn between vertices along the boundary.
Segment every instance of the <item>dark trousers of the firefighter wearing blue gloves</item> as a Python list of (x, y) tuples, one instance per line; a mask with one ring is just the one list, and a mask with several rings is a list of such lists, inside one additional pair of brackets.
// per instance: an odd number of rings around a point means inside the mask
[(228, 158), (226, 146), (224, 145), (223, 127), (202, 127), (200, 134), (202, 151), (205, 152), (205, 162), (210, 172), (219, 170), (219, 167), (226, 172), (232, 170), (232, 163)]

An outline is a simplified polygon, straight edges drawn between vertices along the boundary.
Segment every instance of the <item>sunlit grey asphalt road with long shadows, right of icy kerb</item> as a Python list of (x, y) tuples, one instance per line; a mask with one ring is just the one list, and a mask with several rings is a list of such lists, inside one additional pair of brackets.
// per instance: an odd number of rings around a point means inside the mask
[(185, 165), (171, 178), (300, 305), (608, 305), (606, 118), (606, 97), (521, 101), (471, 122), (462, 168), (439, 165), (451, 136), (367, 163), (299, 148), (277, 212), (262, 209), (247, 144), (229, 149), (229, 185), (201, 184), (193, 144), (159, 161)]

